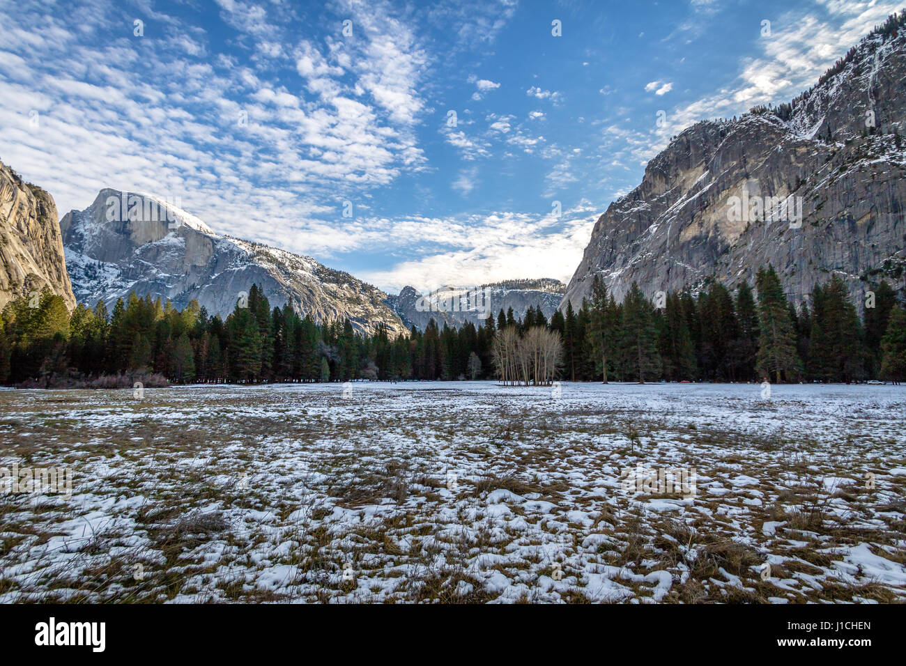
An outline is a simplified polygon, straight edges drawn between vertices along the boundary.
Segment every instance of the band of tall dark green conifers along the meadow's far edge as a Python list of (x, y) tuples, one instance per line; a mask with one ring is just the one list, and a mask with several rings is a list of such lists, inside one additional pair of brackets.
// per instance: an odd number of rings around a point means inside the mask
[(902, 381), (906, 311), (881, 283), (860, 317), (836, 276), (796, 309), (768, 266), (733, 292), (713, 282), (653, 301), (633, 284), (617, 303), (595, 278), (577, 311), (568, 303), (550, 320), (540, 307), (522, 318), (509, 309), (478, 325), (431, 321), (395, 337), (382, 325), (363, 335), (349, 320), (316, 323), (288, 305), (272, 308), (257, 285), (226, 320), (195, 301), (178, 311), (134, 293), (112, 313), (99, 302), (70, 314), (49, 291), (14, 299), (0, 315), (2, 383), (92, 385), (136, 373), (172, 383)]

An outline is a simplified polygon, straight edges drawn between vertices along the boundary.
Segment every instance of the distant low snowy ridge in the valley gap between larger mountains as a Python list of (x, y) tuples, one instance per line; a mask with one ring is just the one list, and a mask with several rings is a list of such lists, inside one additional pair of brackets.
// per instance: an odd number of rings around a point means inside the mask
[(403, 287), (399, 295), (385, 301), (407, 326), (425, 330), (433, 319), (440, 328), (447, 323), (458, 328), (466, 322), (479, 325), (488, 314), (495, 319), (501, 310), (513, 308), (513, 316), (521, 319), (529, 307), (540, 307), (548, 319), (563, 299), (565, 285), (559, 280), (511, 280), (475, 288), (446, 287), (429, 294), (420, 294), (415, 287)]

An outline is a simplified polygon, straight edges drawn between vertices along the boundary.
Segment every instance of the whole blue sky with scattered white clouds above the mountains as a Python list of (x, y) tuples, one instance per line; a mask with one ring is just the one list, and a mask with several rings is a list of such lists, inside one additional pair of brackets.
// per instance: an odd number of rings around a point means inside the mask
[(0, 159), (61, 216), (149, 191), (389, 291), (565, 282), (671, 135), (789, 100), (899, 8), (0, 0)]

